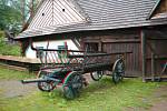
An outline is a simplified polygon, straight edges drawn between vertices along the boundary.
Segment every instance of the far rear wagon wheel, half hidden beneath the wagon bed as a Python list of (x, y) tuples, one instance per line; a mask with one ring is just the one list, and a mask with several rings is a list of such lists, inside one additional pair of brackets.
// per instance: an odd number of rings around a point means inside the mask
[(104, 71), (90, 72), (90, 75), (92, 80), (99, 81), (104, 75)]

